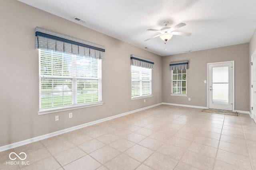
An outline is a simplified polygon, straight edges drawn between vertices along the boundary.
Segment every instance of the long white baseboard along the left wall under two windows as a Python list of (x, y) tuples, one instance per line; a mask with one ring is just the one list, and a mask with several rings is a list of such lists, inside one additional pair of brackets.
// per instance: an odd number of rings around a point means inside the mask
[(54, 136), (56, 136), (56, 135), (60, 135), (60, 134), (67, 133), (67, 132), (70, 132), (70, 131), (74, 131), (74, 130), (76, 130), (76, 129), (80, 129), (80, 128), (83, 128), (83, 127), (86, 127), (86, 126), (90, 126), (90, 125), (94, 125), (94, 124), (97, 124), (97, 123), (101, 123), (101, 122), (103, 122), (103, 121), (108, 121), (108, 120), (111, 120), (111, 119), (114, 119), (114, 118), (117, 118), (117, 117), (121, 117), (121, 116), (124, 116), (124, 115), (128, 115), (128, 114), (131, 114), (131, 113), (135, 113), (135, 112), (137, 112), (137, 111), (142, 111), (142, 110), (145, 110), (145, 109), (148, 109), (148, 108), (151, 108), (151, 107), (159, 106), (159, 105), (161, 105), (161, 104), (162, 104), (162, 103), (155, 104), (155, 105), (152, 105), (152, 106), (143, 107), (143, 108), (140, 108), (140, 109), (128, 111), (128, 112), (126, 112), (126, 113), (121, 113), (121, 114), (118, 114), (118, 115), (106, 117), (106, 118), (104, 118), (104, 119), (99, 119), (99, 120), (96, 120), (96, 121), (84, 123), (84, 124), (82, 124), (82, 125), (78, 125), (78, 126), (70, 127), (70, 128), (67, 128), (67, 129), (60, 130), (60, 131), (48, 133), (48, 134), (46, 134), (46, 135), (41, 135), (41, 136), (38, 136), (38, 137), (26, 139), (26, 140), (24, 140), (24, 141), (12, 143), (12, 144), (9, 144), (9, 145), (4, 145), (4, 146), (0, 147), (0, 152), (5, 151), (5, 150), (8, 150), (8, 149), (13, 149), (13, 148), (16, 148), (16, 147), (20, 147), (20, 146), (22, 146), (22, 145), (27, 145), (27, 144), (29, 144), (29, 143), (33, 143), (33, 142), (36, 142), (36, 141), (40, 141), (40, 140), (43, 140), (43, 139), (46, 139), (46, 138), (49, 138), (49, 137), (54, 137)]

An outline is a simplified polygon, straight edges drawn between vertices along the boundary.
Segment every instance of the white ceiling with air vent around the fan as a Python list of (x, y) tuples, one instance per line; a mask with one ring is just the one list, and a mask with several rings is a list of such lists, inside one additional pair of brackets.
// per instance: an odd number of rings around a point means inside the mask
[[(160, 56), (248, 43), (256, 28), (256, 0), (19, 0)], [(74, 20), (78, 17), (87, 21)], [(164, 41), (144, 41), (161, 29), (186, 26)], [(167, 47), (167, 50), (166, 50)]]

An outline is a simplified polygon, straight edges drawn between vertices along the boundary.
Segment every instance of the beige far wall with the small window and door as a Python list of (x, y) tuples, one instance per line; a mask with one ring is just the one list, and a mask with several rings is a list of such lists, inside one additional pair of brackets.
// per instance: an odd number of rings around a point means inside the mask
[[(163, 57), (163, 102), (192, 106), (207, 106), (207, 63), (235, 61), (235, 109), (249, 111), (249, 44), (233, 45)], [(170, 66), (172, 61), (188, 60), (188, 96), (170, 96)], [(191, 101), (188, 101), (191, 98)]]

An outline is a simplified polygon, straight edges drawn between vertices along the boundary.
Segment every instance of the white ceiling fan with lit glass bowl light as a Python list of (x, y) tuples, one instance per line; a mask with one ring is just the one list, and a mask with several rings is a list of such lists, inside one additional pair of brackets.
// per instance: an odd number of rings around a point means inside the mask
[(148, 29), (148, 31), (158, 31), (160, 32), (160, 34), (151, 37), (149, 39), (146, 39), (144, 41), (148, 41), (152, 38), (155, 37), (160, 37), (162, 40), (164, 40), (165, 42), (168, 41), (169, 39), (172, 38), (172, 35), (184, 35), (184, 36), (190, 36), (192, 33), (183, 33), (183, 32), (176, 32), (174, 31), (175, 29), (178, 29), (180, 27), (183, 27), (186, 25), (186, 23), (179, 23), (178, 25), (175, 25), (174, 27), (167, 27), (167, 25), (169, 24), (168, 21), (164, 22), (165, 27), (163, 27), (162, 29), (158, 30), (158, 29)]

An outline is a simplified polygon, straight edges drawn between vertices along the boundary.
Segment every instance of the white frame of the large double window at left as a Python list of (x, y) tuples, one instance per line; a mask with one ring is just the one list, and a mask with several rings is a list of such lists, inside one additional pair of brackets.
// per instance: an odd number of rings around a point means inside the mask
[[(65, 54), (62, 53), (62, 55), (70, 55), (72, 56), (71, 60), (72, 60), (72, 66), (71, 66), (71, 76), (52, 76), (52, 75), (44, 75), (41, 74), (41, 50), (44, 51), (51, 51), (51, 50), (46, 50), (46, 49), (39, 49), (38, 50), (38, 55), (39, 55), (39, 111), (38, 111), (38, 115), (42, 115), (42, 114), (48, 114), (48, 113), (55, 113), (55, 112), (59, 112), (59, 111), (67, 111), (67, 110), (72, 110), (72, 109), (79, 109), (79, 108), (84, 108), (84, 107), (92, 107), (92, 106), (100, 106), (103, 104), (102, 102), (102, 60), (100, 59), (96, 59), (97, 61), (97, 67), (98, 67), (98, 77), (97, 78), (91, 78), (91, 77), (79, 77), (77, 75), (77, 70), (76, 70), (76, 66), (78, 66), (79, 64), (76, 63), (76, 60), (78, 59), (77, 55), (71, 55), (71, 54)], [(56, 51), (51, 51), (52, 53), (60, 53), (60, 52), (56, 52)], [(61, 53), (60, 53), (61, 54)], [(88, 57), (89, 59), (90, 57)], [(94, 60), (94, 58), (90, 58), (90, 60)], [(75, 63), (75, 64), (73, 64)], [(85, 68), (84, 68), (85, 69)], [(48, 78), (49, 80), (51, 78), (54, 78), (56, 80), (63, 80), (64, 78), (68, 78), (69, 80), (72, 81), (72, 104), (68, 104), (68, 105), (62, 105), (62, 106), (52, 106), (52, 107), (46, 107), (46, 108), (42, 108), (41, 106), (41, 98), (42, 98), (42, 90), (41, 90), (41, 80), (44, 78)], [(78, 99), (78, 80), (98, 80), (98, 101), (95, 102), (84, 102), (84, 103), (78, 103), (77, 99)], [(54, 91), (51, 92), (52, 95), (54, 94)], [(63, 97), (63, 96), (62, 96)], [(52, 97), (53, 99), (54, 97)]]

